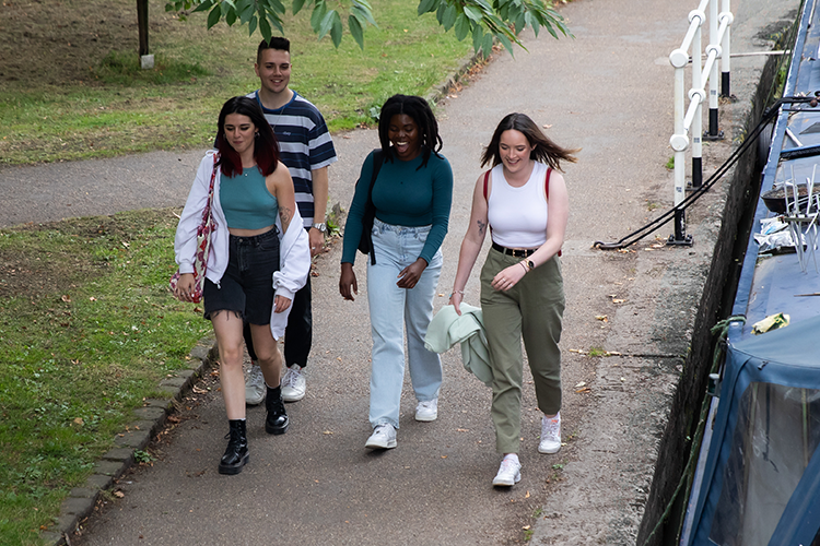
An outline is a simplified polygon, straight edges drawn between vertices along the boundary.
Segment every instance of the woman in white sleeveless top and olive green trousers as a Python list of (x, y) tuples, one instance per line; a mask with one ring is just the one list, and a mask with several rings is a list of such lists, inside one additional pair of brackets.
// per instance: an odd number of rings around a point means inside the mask
[(520, 479), (522, 337), (543, 412), (538, 451), (561, 449), (558, 343), (564, 290), (559, 257), (569, 199), (558, 170), (562, 161), (575, 163), (577, 152), (557, 145), (524, 114), (509, 114), (481, 157), (482, 166), (493, 168), (476, 182), (450, 304), (460, 314), (464, 288), (489, 227), (492, 249), (481, 270), (481, 308), (493, 371), (495, 447), (504, 455), (495, 486)]

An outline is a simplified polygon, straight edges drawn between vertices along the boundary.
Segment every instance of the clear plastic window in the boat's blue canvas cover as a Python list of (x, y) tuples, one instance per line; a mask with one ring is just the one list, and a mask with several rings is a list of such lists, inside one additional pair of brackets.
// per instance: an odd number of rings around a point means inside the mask
[(731, 438), (710, 539), (766, 546), (820, 443), (820, 391), (751, 383)]

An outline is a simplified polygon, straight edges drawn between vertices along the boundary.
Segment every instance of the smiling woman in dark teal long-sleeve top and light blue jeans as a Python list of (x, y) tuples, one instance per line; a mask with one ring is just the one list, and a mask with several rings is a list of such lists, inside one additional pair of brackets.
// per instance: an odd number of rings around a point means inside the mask
[[(370, 449), (396, 447), (399, 403), (405, 378), (407, 329), (408, 365), (419, 404), (415, 419), (437, 417), (442, 363), (424, 347), (433, 317), (433, 297), (442, 271), (441, 246), (447, 234), (453, 201), (453, 170), (438, 154), (442, 138), (426, 100), (394, 95), (378, 122), (383, 164), (373, 185), (373, 249), (367, 263), (373, 357), (371, 368)], [(375, 153), (362, 166), (344, 227), (339, 292), (344, 299), (359, 293), (353, 272), (362, 219), (373, 176)]]

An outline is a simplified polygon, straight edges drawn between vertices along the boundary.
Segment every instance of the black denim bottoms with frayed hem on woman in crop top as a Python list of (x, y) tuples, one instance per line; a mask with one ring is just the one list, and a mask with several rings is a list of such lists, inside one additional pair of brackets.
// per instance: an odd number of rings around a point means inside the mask
[(204, 281), (206, 319), (219, 311), (231, 311), (250, 324), (270, 323), (273, 273), (279, 271), (278, 233), (273, 227), (253, 237), (230, 237), (227, 269), (219, 286)]

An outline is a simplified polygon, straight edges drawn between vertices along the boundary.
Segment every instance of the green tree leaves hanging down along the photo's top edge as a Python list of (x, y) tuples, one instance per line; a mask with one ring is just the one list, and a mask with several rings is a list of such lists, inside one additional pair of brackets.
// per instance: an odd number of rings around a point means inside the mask
[[(312, 7), (311, 26), (319, 39), (330, 34), (335, 47), (339, 47), (344, 33), (342, 15), (347, 15), (348, 32), (359, 47), (364, 49), (364, 31), (367, 25), (378, 26), (373, 16), (373, 8), (366, 0), (341, 0), (332, 8), (326, 0), (294, 0), (292, 12), (298, 13), (307, 4)], [(250, 35), (258, 28), (269, 40), (272, 28), (284, 33), (283, 19), (286, 10), (280, 0), (171, 0), (166, 11), (208, 11), (208, 28), (224, 20), (229, 26), (234, 23), (248, 25)], [(455, 27), (459, 41), (472, 37), (476, 52), (488, 56), (493, 40), (497, 39), (513, 55), (513, 44), (524, 47), (518, 34), (531, 27), (538, 36), (547, 28), (553, 38), (561, 33), (569, 35), (563, 17), (542, 0), (420, 0), (419, 15), (435, 13), (445, 31)]]

